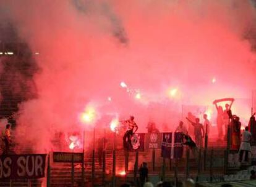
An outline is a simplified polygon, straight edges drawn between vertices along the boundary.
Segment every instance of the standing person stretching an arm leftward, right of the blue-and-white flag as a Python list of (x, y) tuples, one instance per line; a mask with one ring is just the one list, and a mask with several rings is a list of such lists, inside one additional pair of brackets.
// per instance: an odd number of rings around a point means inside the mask
[(195, 118), (195, 122), (193, 122), (188, 117), (186, 118), (194, 126), (195, 143), (198, 147), (202, 148), (205, 131), (203, 130), (203, 125), (199, 123), (200, 119), (197, 117)]

